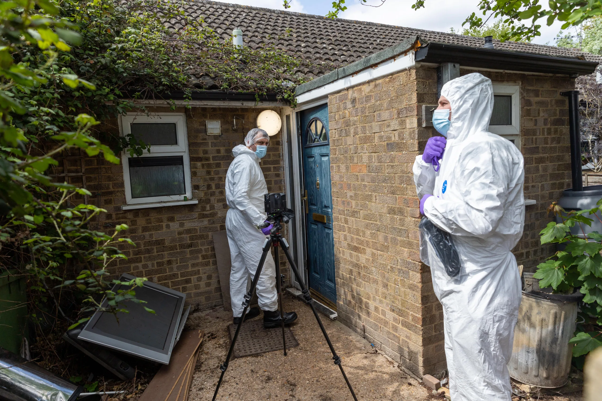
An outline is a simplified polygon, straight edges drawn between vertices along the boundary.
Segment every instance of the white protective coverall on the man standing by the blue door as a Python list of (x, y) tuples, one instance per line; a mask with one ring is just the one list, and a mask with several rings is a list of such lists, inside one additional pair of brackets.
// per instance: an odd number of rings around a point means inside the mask
[[(226, 215), (226, 233), (232, 260), (232, 314), (240, 317), (243, 314), (244, 294), (247, 292), (247, 272), (251, 278), (255, 277), (265, 242), (265, 235), (257, 225), (267, 217), (262, 211), (267, 185), (255, 152), (244, 145), (238, 145), (232, 149), (232, 155), (234, 161), (226, 174), (226, 203), (230, 207)], [(276, 265), (271, 253), (267, 254), (257, 281), (257, 298), (262, 310), (278, 309)]]

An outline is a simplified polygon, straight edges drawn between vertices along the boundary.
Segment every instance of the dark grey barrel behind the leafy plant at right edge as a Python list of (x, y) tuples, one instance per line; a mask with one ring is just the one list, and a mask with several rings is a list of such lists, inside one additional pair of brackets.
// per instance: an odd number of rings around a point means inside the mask
[[(569, 210), (586, 210), (593, 209), (596, 207), (597, 201), (602, 198), (602, 185), (594, 185), (594, 186), (586, 186), (583, 188), (583, 191), (573, 191), (573, 188), (565, 189), (562, 191), (562, 197), (558, 200), (558, 205), (562, 206), (564, 210), (567, 212)], [(593, 215), (585, 215), (588, 218), (594, 219), (592, 222), (592, 226), (583, 225), (583, 231), (586, 234), (591, 233), (592, 231), (598, 231), (598, 233), (602, 234), (602, 213), (596, 213), (598, 218)], [(556, 222), (562, 222), (559, 216), (556, 216)], [(571, 234), (579, 235), (583, 237), (582, 228), (579, 227), (579, 224), (571, 227)]]

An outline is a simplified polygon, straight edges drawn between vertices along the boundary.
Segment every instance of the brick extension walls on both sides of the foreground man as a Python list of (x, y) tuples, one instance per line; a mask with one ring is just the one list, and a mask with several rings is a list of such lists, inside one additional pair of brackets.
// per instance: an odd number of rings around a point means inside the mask
[[(462, 74), (471, 71), (462, 71)], [(483, 72), (520, 82), (525, 157), (525, 232), (514, 249), (527, 269), (551, 254), (538, 233), (545, 209), (569, 186), (562, 77)], [(329, 97), (337, 307), (340, 319), (413, 372), (445, 368), (442, 311), (429, 268), (418, 257), (415, 156), (434, 132), (421, 127), (421, 105), (436, 103), (436, 70), (421, 67)]]

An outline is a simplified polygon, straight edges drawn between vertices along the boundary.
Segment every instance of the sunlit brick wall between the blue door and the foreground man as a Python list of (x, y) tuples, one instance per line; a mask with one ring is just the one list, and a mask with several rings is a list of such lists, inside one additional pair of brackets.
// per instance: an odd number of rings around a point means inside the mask
[(337, 311), (418, 374), (442, 366), (432, 349), (442, 350), (441, 310), (418, 256), (411, 173), (418, 139), (430, 136), (418, 127), (418, 104), (432, 102), (435, 79), (412, 69), (328, 100)]

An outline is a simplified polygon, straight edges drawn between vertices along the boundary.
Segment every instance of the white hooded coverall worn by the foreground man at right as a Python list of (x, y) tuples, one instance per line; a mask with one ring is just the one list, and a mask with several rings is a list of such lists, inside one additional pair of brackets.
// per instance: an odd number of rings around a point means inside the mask
[(517, 261), (510, 249), (523, 234), (523, 156), (488, 132), (491, 81), (472, 73), (441, 90), (452, 121), (441, 168), (417, 156), (414, 182), (424, 215), (453, 234), (461, 260), (456, 279), (429, 246), (435, 295), (443, 305), (445, 357), (453, 401), (511, 401), (506, 364), (512, 355), (521, 301)]

